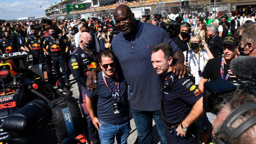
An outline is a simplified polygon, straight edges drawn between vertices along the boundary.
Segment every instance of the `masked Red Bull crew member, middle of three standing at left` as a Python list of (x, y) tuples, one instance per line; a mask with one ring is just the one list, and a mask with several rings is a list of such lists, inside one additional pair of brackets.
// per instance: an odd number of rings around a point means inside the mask
[(29, 36), (26, 40), (25, 47), (31, 45), (32, 50), (29, 51), (33, 56), (33, 65), (39, 64), (39, 60), (41, 63), (46, 62), (46, 58), (44, 56), (44, 51), (46, 49), (42, 49), (42, 45), (44, 42), (44, 37), (37, 34), (35, 27), (30, 27), (30, 31), (32, 36)]

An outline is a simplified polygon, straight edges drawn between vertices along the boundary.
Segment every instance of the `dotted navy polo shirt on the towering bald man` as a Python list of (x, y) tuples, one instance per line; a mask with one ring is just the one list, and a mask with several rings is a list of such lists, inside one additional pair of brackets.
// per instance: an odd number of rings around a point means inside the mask
[(161, 76), (150, 61), (150, 49), (158, 43), (171, 44), (173, 53), (179, 50), (163, 28), (146, 22), (139, 22), (134, 35), (119, 33), (112, 41), (112, 50), (130, 86), (130, 107), (134, 110), (160, 110)]

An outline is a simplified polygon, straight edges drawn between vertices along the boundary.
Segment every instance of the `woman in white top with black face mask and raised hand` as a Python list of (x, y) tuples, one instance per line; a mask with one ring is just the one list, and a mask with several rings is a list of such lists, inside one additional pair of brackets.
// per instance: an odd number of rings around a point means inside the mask
[(186, 58), (184, 64), (188, 66), (191, 75), (195, 76), (195, 84), (198, 85), (204, 70), (204, 60), (212, 59), (213, 55), (199, 35), (191, 36), (189, 45), (192, 52), (188, 50), (183, 52)]

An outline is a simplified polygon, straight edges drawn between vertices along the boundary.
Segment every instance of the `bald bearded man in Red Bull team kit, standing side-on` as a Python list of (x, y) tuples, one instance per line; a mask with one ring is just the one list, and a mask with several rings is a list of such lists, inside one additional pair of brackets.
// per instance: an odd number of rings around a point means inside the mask
[[(86, 107), (85, 94), (86, 94), (86, 79), (92, 69), (96, 68), (98, 65), (97, 54), (94, 51), (94, 46), (92, 42), (92, 36), (87, 33), (81, 33), (79, 37), (79, 46), (74, 52), (69, 55), (69, 69), (76, 79), (78, 90), (79, 90), (79, 105), (81, 107), (82, 113), (84, 115), (84, 121), (88, 124), (85, 128), (88, 132), (89, 138), (93, 144), (99, 141), (98, 131), (92, 123), (92, 119)], [(95, 104), (96, 105), (96, 104)]]

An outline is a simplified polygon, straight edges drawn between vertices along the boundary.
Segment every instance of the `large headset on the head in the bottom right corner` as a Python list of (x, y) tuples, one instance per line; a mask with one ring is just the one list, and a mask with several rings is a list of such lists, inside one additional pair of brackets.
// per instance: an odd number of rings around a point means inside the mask
[(218, 135), (220, 133), (226, 133), (229, 137), (229, 143), (232, 143), (236, 138), (238, 138), (243, 132), (251, 128), (253, 125), (256, 124), (256, 115), (250, 117), (245, 122), (237, 126), (236, 128), (233, 128), (231, 124), (242, 114), (246, 113), (247, 111), (250, 111), (252, 109), (256, 109), (256, 103), (251, 102), (244, 105), (241, 105), (234, 109), (226, 118), (224, 121), (222, 127), (218, 132), (215, 133), (216, 139), (213, 139), (211, 144), (227, 144), (225, 140), (222, 140), (218, 138)]

